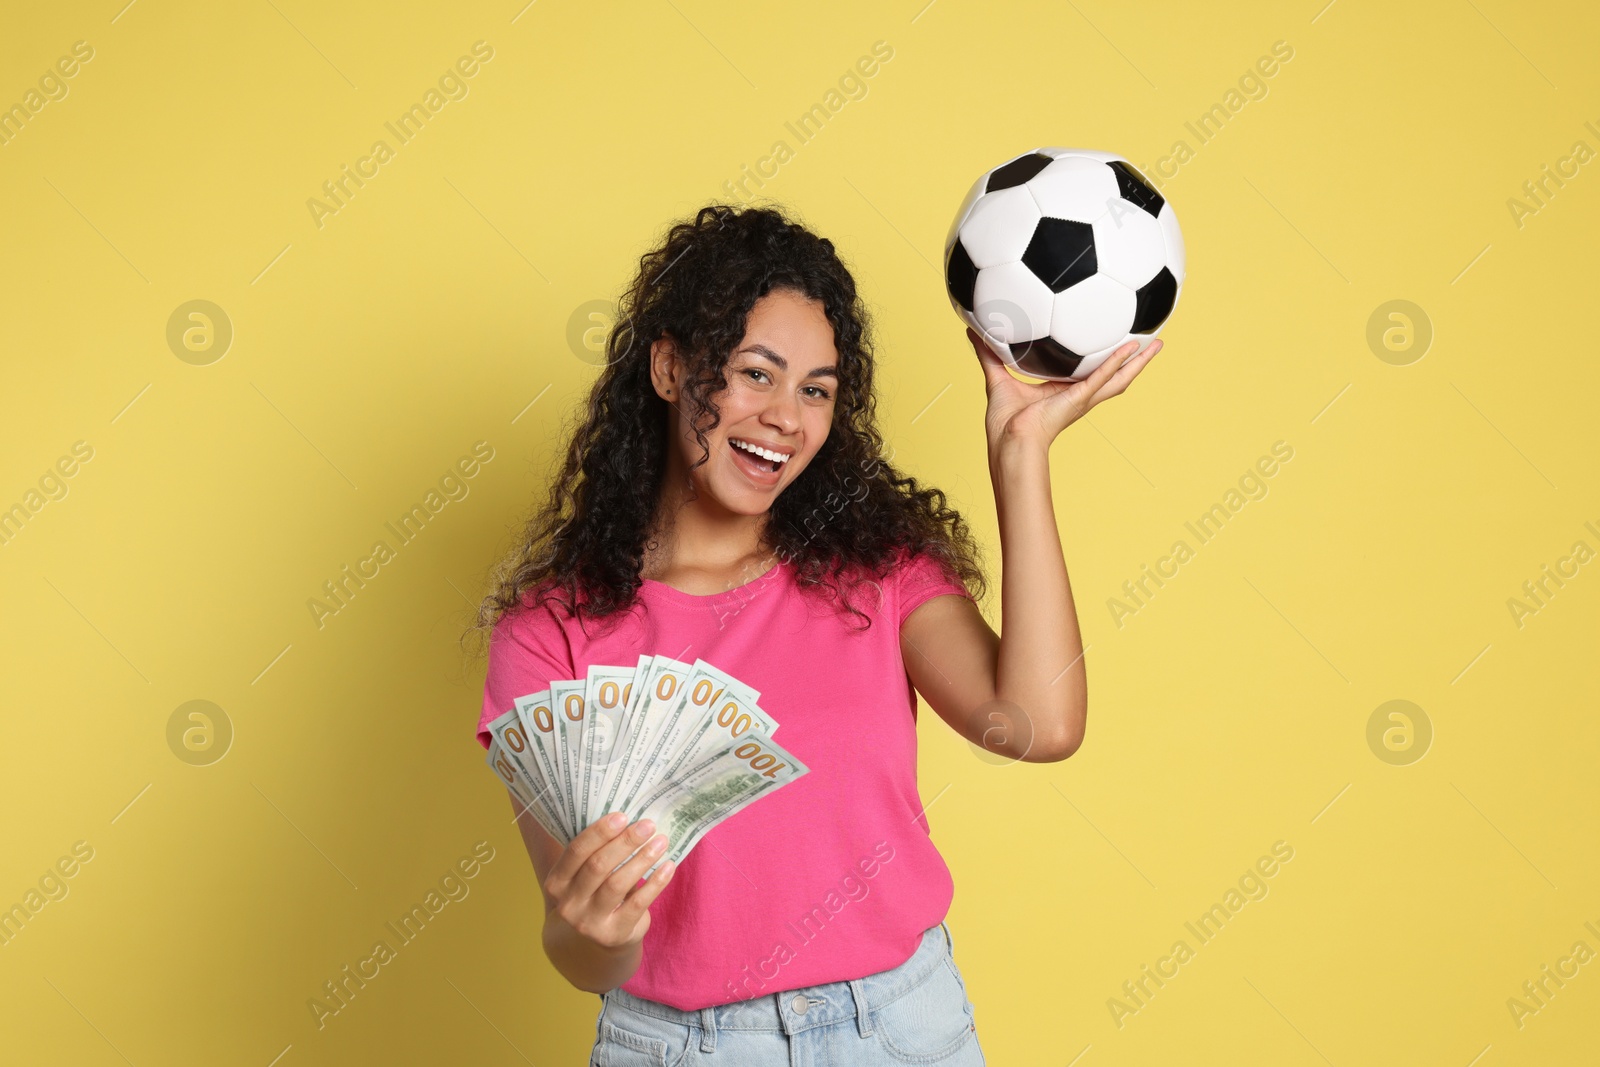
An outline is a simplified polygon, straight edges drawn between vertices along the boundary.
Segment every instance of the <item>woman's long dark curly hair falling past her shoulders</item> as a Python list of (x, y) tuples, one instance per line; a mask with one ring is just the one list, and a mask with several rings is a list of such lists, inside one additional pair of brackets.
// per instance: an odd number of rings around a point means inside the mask
[(704, 430), (720, 419), (710, 397), (728, 387), (723, 371), (744, 339), (746, 318), (773, 290), (822, 304), (838, 382), (827, 440), (774, 501), (763, 547), (794, 563), (802, 589), (866, 625), (870, 619), (850, 587), (885, 577), (902, 552), (934, 557), (968, 592), (986, 595), (979, 550), (962, 515), (946, 506), (944, 493), (918, 488), (883, 456), (870, 322), (834, 243), (778, 208), (714, 203), (675, 222), (640, 258), (549, 499), (494, 569), (469, 632), (493, 630), (504, 614), (547, 600), (595, 619), (634, 605), (667, 466), (669, 413), (651, 386), (651, 342), (669, 338), (688, 363), (680, 410), (694, 427), (699, 467), (710, 458)]

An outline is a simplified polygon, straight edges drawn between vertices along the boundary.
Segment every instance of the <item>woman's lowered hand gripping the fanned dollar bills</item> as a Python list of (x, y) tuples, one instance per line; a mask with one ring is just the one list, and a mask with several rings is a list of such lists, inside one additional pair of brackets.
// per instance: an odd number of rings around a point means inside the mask
[(562, 849), (544, 880), (550, 915), (606, 952), (627, 950), (645, 939), (650, 904), (667, 888), (675, 870), (675, 864), (666, 861), (640, 885), (667, 838), (664, 833), (651, 837), (656, 825), (650, 819), (630, 827), (626, 822), (627, 816), (614, 811), (587, 825)]

